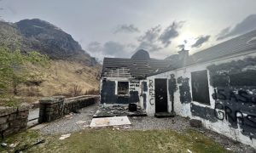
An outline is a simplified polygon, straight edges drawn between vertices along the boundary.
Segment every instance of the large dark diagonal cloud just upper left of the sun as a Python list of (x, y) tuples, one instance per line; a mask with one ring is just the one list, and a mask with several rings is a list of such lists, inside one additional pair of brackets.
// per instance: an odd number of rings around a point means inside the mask
[(165, 47), (168, 47), (172, 39), (178, 37), (178, 29), (180, 29), (184, 24), (184, 21), (172, 22), (172, 25), (168, 26), (166, 30), (160, 35), (159, 40), (162, 42)]

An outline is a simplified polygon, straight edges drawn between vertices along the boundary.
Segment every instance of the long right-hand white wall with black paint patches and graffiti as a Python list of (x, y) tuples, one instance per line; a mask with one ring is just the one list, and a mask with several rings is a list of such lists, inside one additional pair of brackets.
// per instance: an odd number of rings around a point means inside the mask
[[(216, 95), (215, 92), (218, 92), (218, 88), (220, 87), (213, 87), (212, 85), (213, 72), (212, 69), (211, 71), (209, 70), (212, 65), (213, 68), (215, 65), (218, 69), (220, 69), (219, 66), (223, 66), (223, 69), (221, 69), (221, 71), (218, 70), (216, 74), (224, 71), (225, 73), (228, 73), (228, 75), (230, 75), (230, 77), (226, 79), (227, 82), (229, 82), (230, 84), (225, 88), (229, 89), (227, 90), (228, 92), (232, 91), (235, 93), (231, 94), (231, 96), (233, 96), (231, 99), (224, 99), (224, 97), (221, 98), (222, 94), (227, 93), (226, 90), (224, 90), (224, 92), (220, 95), (217, 95), (220, 96), (220, 98), (218, 97), (218, 99), (214, 99), (214, 95)], [(230, 65), (231, 70), (227, 68), (227, 66)], [(236, 69), (240, 70), (238, 71), (239, 73), (236, 73)], [(202, 102), (197, 102), (193, 100), (193, 92), (195, 92), (193, 91), (193, 88), (195, 90), (196, 84), (198, 83), (196, 81), (193, 82), (194, 86), (192, 88), (191, 73), (198, 71), (201, 71), (202, 73), (204, 71), (207, 71), (207, 86), (205, 87), (208, 87), (208, 103), (204, 103), (203, 100)], [(233, 73), (233, 71), (235, 72)], [(231, 139), (235, 139), (244, 144), (249, 144), (256, 148), (256, 86), (248, 86), (249, 82), (247, 82), (246, 86), (236, 86), (234, 85), (234, 83), (232, 84), (231, 82), (232, 79), (236, 81), (242, 80), (243, 78), (240, 79), (240, 76), (244, 77), (241, 75), (241, 73), (243, 74), (244, 71), (250, 72), (249, 74), (256, 74), (256, 50), (253, 50), (252, 52), (247, 52), (245, 54), (236, 54), (230, 57), (219, 58), (209, 62), (198, 63), (196, 65), (189, 65), (181, 69), (167, 71), (165, 73), (160, 73), (154, 76), (147, 77), (147, 114), (148, 116), (154, 116), (155, 113), (154, 79), (170, 79), (170, 76), (174, 74), (175, 78), (177, 79), (177, 91), (174, 93), (174, 111), (177, 113), (177, 115), (189, 116), (191, 119), (201, 120), (205, 127), (217, 133), (224, 134)], [(238, 78), (236, 78), (236, 76), (238, 76)], [(249, 78), (249, 80), (253, 80), (252, 77)], [(241, 83), (243, 82), (239, 83), (241, 85)], [(189, 88), (187, 86), (189, 86)], [(240, 95), (241, 91), (243, 91), (244, 93)], [(187, 92), (190, 92), (190, 101), (189, 98), (186, 97), (189, 96)], [(168, 111), (170, 112), (172, 111), (170, 107), (172, 105), (172, 102), (169, 98), (169, 92), (167, 93)], [(230, 93), (228, 94), (230, 96)], [(195, 98), (195, 95), (196, 93), (194, 94), (194, 99), (201, 99), (201, 97)], [(247, 98), (242, 99), (242, 97)], [(241, 100), (235, 100), (234, 102), (234, 99)], [(218, 104), (217, 108), (216, 104)], [(237, 115), (235, 114), (234, 116), (235, 112)]]

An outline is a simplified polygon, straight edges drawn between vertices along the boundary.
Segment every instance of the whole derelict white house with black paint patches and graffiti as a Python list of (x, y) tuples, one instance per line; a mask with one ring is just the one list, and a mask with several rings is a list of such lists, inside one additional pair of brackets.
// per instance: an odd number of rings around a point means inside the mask
[(256, 31), (192, 55), (182, 50), (156, 60), (158, 67), (134, 56), (104, 59), (102, 104), (188, 116), (256, 148)]

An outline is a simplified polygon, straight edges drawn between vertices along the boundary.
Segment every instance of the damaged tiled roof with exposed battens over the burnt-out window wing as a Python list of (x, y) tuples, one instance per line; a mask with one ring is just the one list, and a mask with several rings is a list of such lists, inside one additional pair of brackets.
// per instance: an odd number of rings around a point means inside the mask
[(139, 50), (131, 59), (104, 58), (101, 76), (144, 78), (168, 66), (167, 60), (151, 59), (147, 51)]

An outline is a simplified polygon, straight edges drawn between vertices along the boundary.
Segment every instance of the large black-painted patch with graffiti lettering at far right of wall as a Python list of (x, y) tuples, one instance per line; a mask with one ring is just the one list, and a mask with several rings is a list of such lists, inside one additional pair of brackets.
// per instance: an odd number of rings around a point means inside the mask
[(214, 87), (214, 115), (256, 138), (256, 58), (207, 67)]

